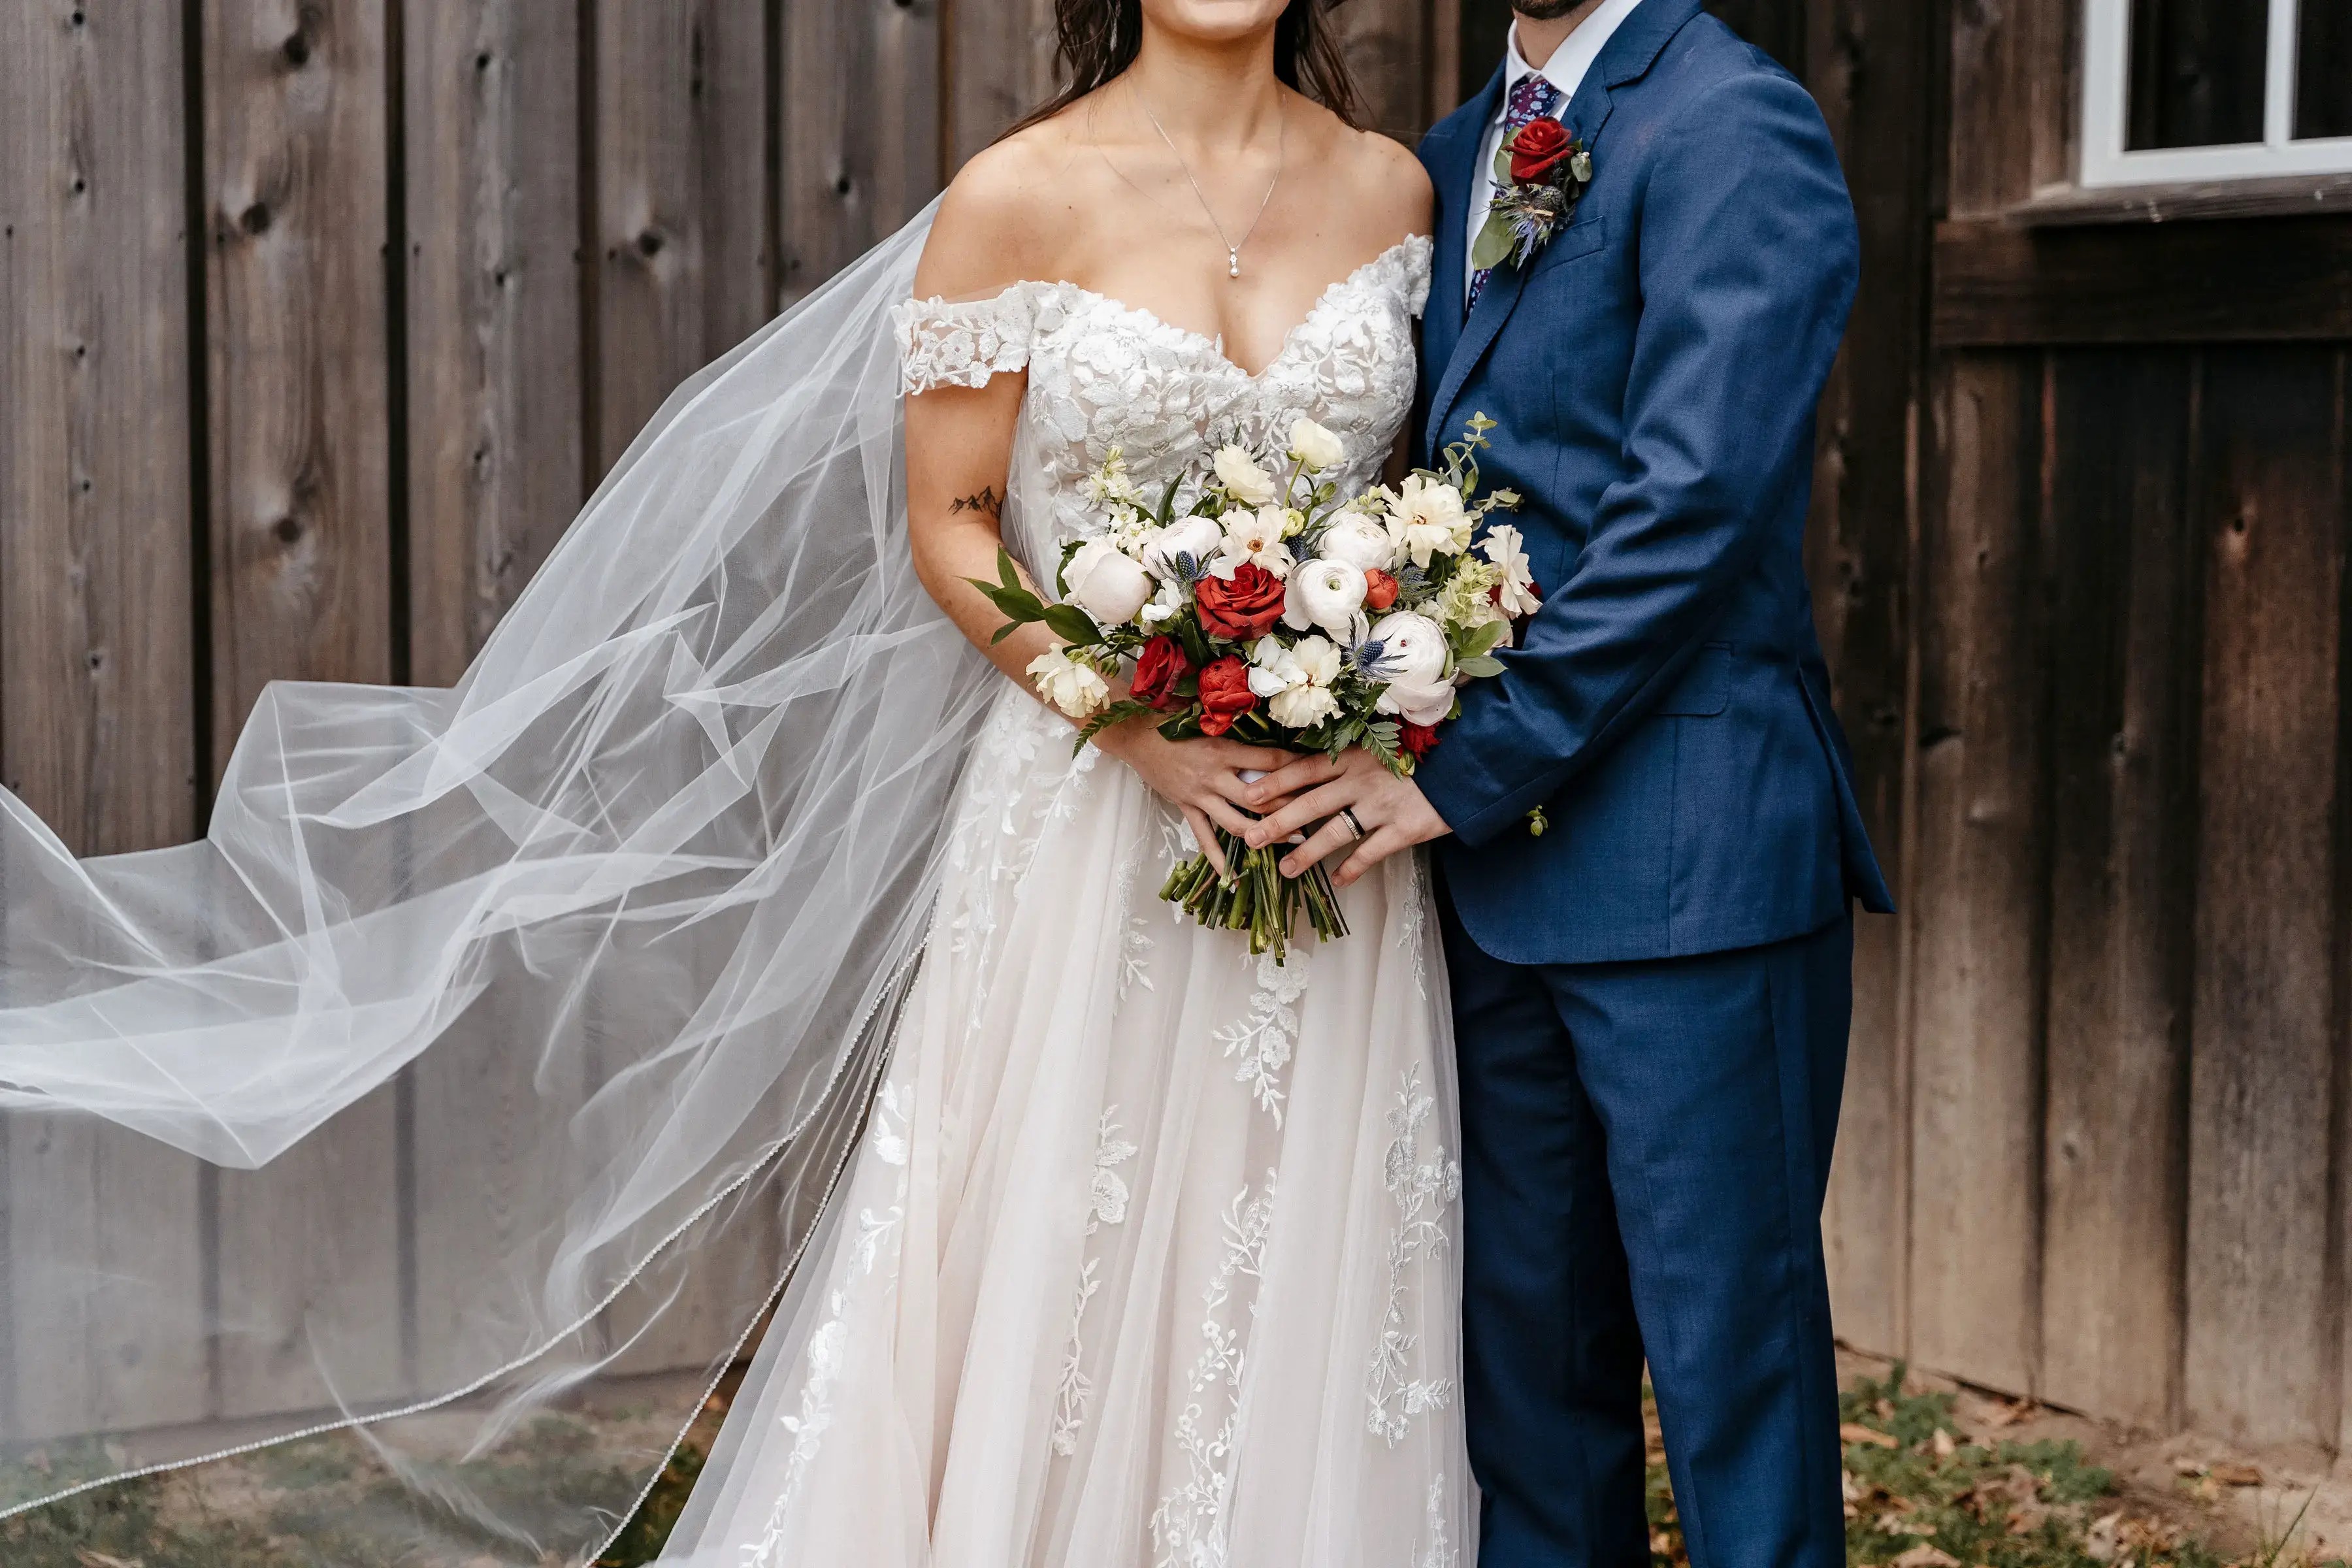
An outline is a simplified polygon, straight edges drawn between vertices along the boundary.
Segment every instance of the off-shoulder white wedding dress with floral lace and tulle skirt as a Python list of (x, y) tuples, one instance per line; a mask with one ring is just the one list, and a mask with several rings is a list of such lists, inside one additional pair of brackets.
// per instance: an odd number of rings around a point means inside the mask
[[(1073, 284), (898, 313), (908, 393), (1028, 371), (1007, 543), (1310, 414), (1367, 484), (1430, 247), (1334, 284), (1261, 374)], [(1277, 442), (1279, 444), (1279, 442)], [(1465, 1561), (1451, 1032), (1425, 875), (1251, 959), (1157, 898), (1190, 837), (1007, 684), (870, 1126), (668, 1561)]]

